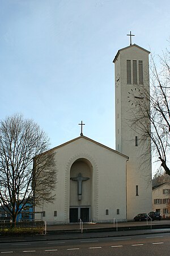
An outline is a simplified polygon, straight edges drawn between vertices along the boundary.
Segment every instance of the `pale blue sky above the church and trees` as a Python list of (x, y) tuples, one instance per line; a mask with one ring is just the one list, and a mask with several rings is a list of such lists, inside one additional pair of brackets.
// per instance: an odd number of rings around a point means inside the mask
[(132, 43), (161, 55), (169, 0), (1, 0), (0, 119), (31, 118), (51, 147), (83, 135), (115, 148), (114, 64)]

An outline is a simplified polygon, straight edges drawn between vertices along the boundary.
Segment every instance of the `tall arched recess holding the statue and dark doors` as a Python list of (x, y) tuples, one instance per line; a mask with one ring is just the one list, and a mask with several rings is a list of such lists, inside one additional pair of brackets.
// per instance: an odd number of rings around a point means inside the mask
[(89, 222), (91, 218), (92, 164), (77, 159), (70, 169), (70, 222)]

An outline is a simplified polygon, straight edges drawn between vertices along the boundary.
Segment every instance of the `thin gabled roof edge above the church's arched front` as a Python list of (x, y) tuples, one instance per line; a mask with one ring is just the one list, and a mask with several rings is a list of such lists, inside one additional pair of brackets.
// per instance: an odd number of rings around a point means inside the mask
[[(48, 150), (48, 151), (56, 150), (56, 149), (59, 148), (59, 147), (63, 147), (63, 146), (65, 146), (65, 145), (69, 144), (69, 143), (72, 143), (72, 142), (74, 142), (74, 141), (78, 141), (79, 139), (82, 139), (82, 138), (87, 139), (87, 141), (90, 141), (90, 142), (92, 142), (92, 143), (95, 143), (95, 144), (97, 144), (97, 145), (99, 145), (99, 146), (101, 146), (101, 147), (107, 148), (108, 150), (111, 150), (112, 152), (115, 152), (116, 154), (121, 155), (121, 156), (124, 156), (125, 158), (129, 159), (128, 156), (122, 154), (121, 152), (118, 152), (118, 151), (116, 151), (116, 150), (113, 150), (112, 148), (107, 147), (107, 146), (105, 146), (105, 145), (103, 145), (103, 144), (101, 144), (101, 143), (99, 143), (99, 142), (96, 142), (96, 141), (94, 141), (93, 139), (90, 139), (90, 138), (88, 138), (88, 137), (86, 137), (86, 136), (84, 136), (84, 135), (79, 136), (79, 137), (77, 137), (77, 138), (75, 138), (75, 139), (71, 139), (71, 141), (67, 141), (67, 142), (65, 142), (65, 143), (63, 143), (63, 144), (61, 144), (61, 145), (59, 145), (59, 146), (57, 146), (57, 147), (53, 147), (53, 148), (51, 148), (51, 149)], [(46, 151), (46, 152), (48, 152), (48, 151)], [(44, 152), (44, 153), (45, 153), (45, 152)], [(42, 153), (42, 154), (44, 154), (44, 153)]]

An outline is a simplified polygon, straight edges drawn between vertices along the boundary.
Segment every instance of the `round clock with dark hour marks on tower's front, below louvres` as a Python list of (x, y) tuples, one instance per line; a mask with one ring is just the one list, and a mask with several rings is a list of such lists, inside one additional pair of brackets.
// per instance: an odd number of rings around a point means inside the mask
[(138, 88), (133, 88), (128, 92), (128, 102), (131, 106), (136, 107), (140, 105), (140, 102), (143, 102), (143, 95)]

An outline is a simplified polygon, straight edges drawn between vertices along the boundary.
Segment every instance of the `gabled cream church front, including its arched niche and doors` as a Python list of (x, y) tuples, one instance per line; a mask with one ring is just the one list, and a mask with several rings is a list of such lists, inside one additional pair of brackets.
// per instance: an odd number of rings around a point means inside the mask
[(83, 135), (53, 150), (57, 153), (56, 200), (43, 205), (44, 220), (53, 224), (80, 218), (83, 222), (126, 220), (127, 156)]

